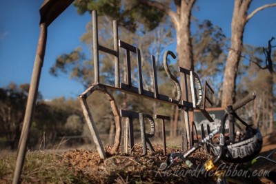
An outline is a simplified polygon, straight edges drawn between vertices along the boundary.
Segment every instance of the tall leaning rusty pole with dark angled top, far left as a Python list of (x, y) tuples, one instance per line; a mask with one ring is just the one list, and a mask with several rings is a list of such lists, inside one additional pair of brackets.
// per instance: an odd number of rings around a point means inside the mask
[(12, 183), (20, 183), (20, 175), (23, 168), (23, 163), (26, 156), (26, 143), (28, 141), (28, 134), (30, 132), (30, 127), (32, 126), (32, 116), (34, 113), (34, 106), (37, 100), (37, 91), (39, 88), (39, 79), (41, 76), (41, 69), (43, 66), (43, 60), (46, 50), (47, 41), (47, 28), (52, 21), (59, 17), (66, 8), (72, 3), (72, 0), (56, 1), (47, 0), (44, 1), (40, 13), (40, 34), (39, 41), (37, 45), (37, 53), (34, 59), (34, 68), (32, 70), (32, 79), (30, 82), (30, 89), (28, 93), (28, 100), (26, 105), (26, 111), (23, 120), (23, 127), (21, 130), (21, 136), (19, 139), (19, 145), (17, 148), (17, 161), (15, 163), (14, 175), (12, 178)]

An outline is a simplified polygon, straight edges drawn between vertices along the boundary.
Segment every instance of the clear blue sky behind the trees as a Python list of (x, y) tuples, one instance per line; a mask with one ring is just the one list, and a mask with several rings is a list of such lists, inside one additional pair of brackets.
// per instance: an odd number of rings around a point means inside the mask
[[(261, 5), (275, 2), (255, 0), (250, 6), (250, 12)], [(39, 8), (42, 3), (42, 0), (0, 1), (0, 88), (6, 87), (10, 82), (17, 85), (30, 83), (39, 38)], [(195, 10), (193, 15), (199, 20), (210, 19), (230, 37), (233, 4), (233, 0), (198, 0), (196, 6), (199, 10)], [(276, 37), (275, 17), (276, 8), (257, 13), (246, 25), (244, 43), (266, 46), (268, 39)], [(79, 38), (86, 32), (86, 23), (90, 19), (89, 14), (79, 16), (71, 5), (48, 27), (46, 55), (39, 83), (43, 99), (59, 96), (75, 99), (83, 92), (83, 86), (77, 81), (68, 79), (66, 75), (52, 76), (49, 69), (59, 54), (68, 53), (82, 44)]]

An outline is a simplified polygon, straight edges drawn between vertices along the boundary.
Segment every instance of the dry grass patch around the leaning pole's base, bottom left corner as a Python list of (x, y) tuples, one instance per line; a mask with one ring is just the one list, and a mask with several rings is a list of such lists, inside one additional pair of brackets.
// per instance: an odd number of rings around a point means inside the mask
[[(87, 183), (88, 179), (72, 168), (61, 164), (62, 155), (53, 152), (27, 152), (21, 183)], [(0, 183), (12, 183), (16, 156), (0, 157)]]

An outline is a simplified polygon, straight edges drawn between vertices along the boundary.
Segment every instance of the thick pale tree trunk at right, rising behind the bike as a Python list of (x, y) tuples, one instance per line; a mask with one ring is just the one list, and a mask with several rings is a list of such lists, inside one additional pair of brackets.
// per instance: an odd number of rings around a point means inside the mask
[(231, 23), (231, 45), (224, 70), (224, 85), (221, 107), (235, 102), (235, 89), (237, 69), (241, 59), (244, 28), (247, 20), (247, 12), (251, 0), (235, 0), (233, 18)]

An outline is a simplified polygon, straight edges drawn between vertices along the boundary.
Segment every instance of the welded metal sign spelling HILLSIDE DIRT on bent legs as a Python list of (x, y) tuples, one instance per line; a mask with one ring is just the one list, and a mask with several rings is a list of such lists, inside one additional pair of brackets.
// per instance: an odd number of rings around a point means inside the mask
[[(206, 96), (206, 86), (208, 89), (213, 92), (213, 90), (210, 88), (210, 85), (206, 83), (204, 95), (203, 95), (203, 89), (201, 88), (201, 81), (199, 79), (199, 76), (190, 70), (186, 70), (185, 68), (179, 67), (179, 72), (183, 73), (185, 75), (185, 79), (187, 76), (190, 77), (190, 88), (191, 91), (188, 92), (188, 88), (186, 88), (185, 92), (186, 94), (191, 94), (192, 96), (192, 102), (189, 102), (188, 99), (186, 101), (181, 100), (181, 88), (179, 85), (179, 81), (175, 76), (172, 75), (170, 72), (168, 65), (167, 65), (167, 57), (170, 55), (173, 59), (175, 59), (175, 54), (171, 51), (166, 51), (164, 53), (164, 70), (168, 74), (168, 77), (174, 81), (175, 86), (177, 88), (177, 96), (176, 99), (170, 98), (169, 96), (166, 96), (164, 94), (159, 94), (158, 92), (158, 85), (157, 85), (157, 72), (155, 67), (155, 57), (152, 56), (152, 72), (154, 75), (154, 92), (144, 90), (143, 88), (143, 77), (142, 77), (142, 68), (141, 68), (141, 54), (139, 48), (136, 48), (133, 45), (130, 45), (129, 43), (126, 43), (124, 41), (121, 41), (118, 39), (118, 27), (117, 27), (117, 21), (113, 21), (113, 36), (114, 36), (114, 50), (110, 48), (106, 48), (103, 45), (99, 45), (98, 43), (98, 28), (97, 28), (97, 12), (94, 10), (92, 12), (92, 34), (93, 34), (93, 55), (94, 55), (94, 72), (95, 72), (95, 82), (88, 88), (85, 92), (83, 92), (79, 96), (79, 100), (81, 101), (81, 108), (83, 110), (83, 114), (86, 118), (86, 123), (88, 123), (88, 127), (90, 129), (90, 132), (92, 134), (93, 141), (95, 142), (97, 146), (97, 151), (99, 152), (99, 155), (102, 159), (106, 159), (106, 154), (103, 149), (103, 145), (101, 143), (101, 139), (99, 138), (99, 133), (97, 131), (97, 127), (95, 125), (95, 122), (92, 119), (92, 116), (90, 114), (90, 109), (88, 107), (88, 104), (86, 103), (86, 99), (92, 92), (95, 90), (99, 90), (103, 93), (105, 93), (108, 98), (110, 99), (110, 105), (112, 107), (113, 114), (115, 115), (115, 123), (116, 123), (116, 135), (115, 135), (115, 143), (112, 147), (112, 152), (117, 152), (119, 150), (119, 145), (121, 142), (121, 117), (126, 117), (127, 122), (124, 125), (125, 129), (124, 131), (124, 145), (123, 152), (128, 151), (128, 145), (130, 147), (130, 152), (133, 152), (133, 146), (134, 146), (134, 140), (133, 140), (133, 124), (132, 119), (139, 119), (140, 127), (141, 127), (141, 141), (143, 146), (143, 154), (146, 154), (146, 145), (150, 146), (150, 150), (154, 152), (153, 147), (149, 141), (148, 138), (154, 135), (154, 129), (155, 129), (155, 121), (149, 114), (143, 114), (139, 112), (130, 112), (127, 110), (119, 110), (117, 108), (116, 102), (114, 97), (112, 96), (111, 92), (109, 90), (117, 90), (120, 92), (124, 92), (126, 94), (132, 94), (135, 96), (139, 96), (142, 98), (146, 98), (152, 101), (159, 101), (161, 103), (168, 103), (170, 105), (177, 105), (179, 110), (184, 110), (184, 114), (186, 115), (185, 118), (185, 125), (186, 125), (186, 141), (188, 141), (189, 145), (191, 145), (191, 139), (190, 139), (190, 123), (188, 119), (188, 112), (193, 112), (194, 110), (201, 111), (204, 116), (206, 116), (206, 119), (208, 121), (213, 121), (213, 119), (210, 117), (208, 112), (205, 110), (205, 101), (211, 103), (210, 99), (208, 99), (208, 96)], [(126, 73), (127, 73), (127, 80), (126, 83), (120, 83), (119, 80), (119, 48), (125, 50), (125, 57), (126, 57)], [(106, 85), (101, 83), (99, 81), (99, 51), (106, 52), (108, 54), (111, 54), (114, 56), (114, 66), (115, 66), (115, 86), (112, 85)], [(130, 52), (132, 54), (136, 54), (137, 58), (137, 66), (138, 66), (138, 87), (132, 85), (132, 79), (131, 79), (131, 62), (130, 62)], [(188, 81), (185, 81), (186, 87), (188, 86)], [(182, 89), (184, 90), (184, 89)], [(188, 95), (186, 95), (188, 96)], [(203, 108), (201, 107), (202, 101), (204, 102)], [(144, 119), (148, 119), (150, 121), (151, 131), (149, 134), (146, 134), (145, 132), (145, 123)], [(155, 115), (155, 119), (162, 119), (163, 120), (163, 134), (164, 134), (164, 154), (166, 154), (166, 135), (165, 135), (165, 128), (164, 128), (164, 120), (170, 119), (168, 116), (162, 116), (162, 115)], [(152, 132), (153, 131), (153, 132)], [(129, 144), (128, 144), (129, 143)], [(184, 147), (184, 149), (187, 149), (187, 147)]]

